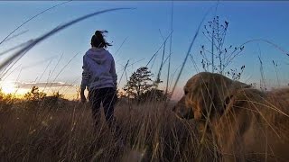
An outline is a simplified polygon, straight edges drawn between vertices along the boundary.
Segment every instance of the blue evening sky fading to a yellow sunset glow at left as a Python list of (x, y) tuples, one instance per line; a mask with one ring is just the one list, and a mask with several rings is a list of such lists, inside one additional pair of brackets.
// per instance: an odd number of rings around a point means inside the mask
[[(4, 40), (11, 31), (35, 14), (63, 2), (0, 1), (0, 40)], [(259, 84), (261, 72), (258, 56), (261, 56), (267, 86), (277, 87), (289, 83), (289, 57), (279, 49), (289, 51), (287, 31), (289, 2), (286, 1), (220, 1), (219, 4), (217, 1), (71, 1), (24, 24), (13, 34), (19, 34), (18, 36), (0, 44), (0, 53), (27, 40), (38, 38), (58, 25), (79, 16), (116, 7), (135, 9), (99, 14), (43, 40), (29, 50), (5, 76), (2, 76), (3, 88), (6, 87), (9, 91), (9, 86), (16, 85), (20, 87), (18, 92), (24, 93), (24, 89), (28, 90), (32, 85), (38, 84), (40, 87), (49, 87), (45, 88), (46, 90), (61, 91), (70, 97), (77, 96), (81, 81), (82, 57), (90, 48), (91, 36), (96, 30), (107, 30), (107, 41), (113, 44), (108, 50), (116, 60), (120, 88), (126, 84), (126, 76), (121, 77), (126, 62), (129, 60), (130, 66), (126, 69), (129, 77), (138, 67), (148, 63), (163, 44), (163, 37), (168, 37), (172, 32), (170, 70), (172, 80), (170, 90), (172, 90), (191, 41), (208, 11), (209, 14), (206, 15), (190, 52), (197, 67), (191, 58), (187, 60), (174, 98), (182, 94), (182, 86), (191, 76), (203, 71), (200, 63), (202, 59), (200, 47), (204, 45), (210, 49), (210, 41), (201, 31), (204, 31), (203, 25), (215, 15), (219, 16), (220, 22), (228, 22), (226, 47), (239, 46), (247, 40), (268, 40), (277, 45), (276, 47), (264, 41), (245, 44), (245, 49), (231, 64), (232, 68), (246, 66), (241, 76), (242, 82)], [(165, 46), (165, 58), (170, 51), (169, 40)], [(0, 63), (13, 52), (0, 54)], [(148, 65), (154, 76), (157, 76), (162, 55), (163, 49), (157, 52), (155, 59)], [(277, 67), (273, 65), (273, 60)], [(168, 61), (163, 65), (161, 88), (165, 86), (167, 70)]]

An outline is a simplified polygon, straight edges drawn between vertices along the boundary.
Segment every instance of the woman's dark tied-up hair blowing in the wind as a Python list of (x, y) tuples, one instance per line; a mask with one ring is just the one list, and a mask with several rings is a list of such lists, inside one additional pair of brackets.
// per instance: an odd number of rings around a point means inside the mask
[(96, 31), (95, 34), (91, 37), (91, 46), (96, 48), (107, 48), (111, 46), (110, 43), (104, 38), (103, 33), (108, 31)]

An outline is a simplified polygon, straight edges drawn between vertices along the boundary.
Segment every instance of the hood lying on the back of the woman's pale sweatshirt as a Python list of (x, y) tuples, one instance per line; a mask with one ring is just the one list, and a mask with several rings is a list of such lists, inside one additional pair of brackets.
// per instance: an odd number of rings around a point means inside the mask
[(87, 51), (87, 55), (89, 58), (94, 60), (98, 65), (102, 65), (107, 61), (107, 53), (106, 49), (89, 49)]

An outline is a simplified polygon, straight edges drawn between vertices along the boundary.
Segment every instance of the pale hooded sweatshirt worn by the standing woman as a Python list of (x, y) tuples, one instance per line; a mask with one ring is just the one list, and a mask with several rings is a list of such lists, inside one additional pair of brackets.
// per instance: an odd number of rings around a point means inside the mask
[(88, 90), (117, 86), (115, 60), (106, 49), (89, 49), (83, 56), (81, 88)]

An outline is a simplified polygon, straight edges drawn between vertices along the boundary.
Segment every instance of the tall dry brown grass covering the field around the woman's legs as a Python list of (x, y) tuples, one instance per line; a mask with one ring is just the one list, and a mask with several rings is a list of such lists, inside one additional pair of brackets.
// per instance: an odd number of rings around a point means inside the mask
[[(51, 109), (15, 104), (9, 111), (0, 112), (0, 161), (196, 159), (200, 153), (194, 123), (177, 119), (163, 105), (117, 105), (116, 116), (122, 128), (121, 137), (125, 139), (121, 148), (104, 118), (94, 130), (88, 105), (66, 103)], [(202, 161), (211, 161), (212, 154), (204, 151)]]

